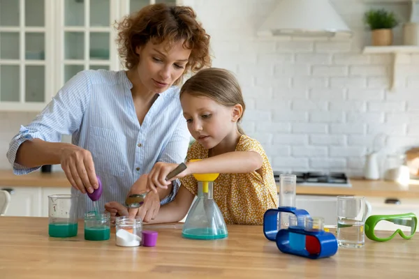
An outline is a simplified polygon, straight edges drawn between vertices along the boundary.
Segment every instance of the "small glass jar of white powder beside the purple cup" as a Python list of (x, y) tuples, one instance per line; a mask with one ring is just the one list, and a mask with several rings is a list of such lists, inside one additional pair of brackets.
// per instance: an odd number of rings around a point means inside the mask
[(128, 216), (119, 216), (115, 222), (117, 246), (135, 247), (141, 245), (142, 219)]

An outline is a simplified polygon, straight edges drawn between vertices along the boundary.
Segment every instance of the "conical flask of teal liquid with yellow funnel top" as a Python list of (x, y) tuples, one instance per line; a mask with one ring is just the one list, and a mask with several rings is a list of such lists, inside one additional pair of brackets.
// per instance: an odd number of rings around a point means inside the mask
[(226, 222), (213, 199), (214, 180), (219, 174), (193, 174), (198, 180), (198, 198), (193, 202), (182, 229), (186, 239), (223, 239)]

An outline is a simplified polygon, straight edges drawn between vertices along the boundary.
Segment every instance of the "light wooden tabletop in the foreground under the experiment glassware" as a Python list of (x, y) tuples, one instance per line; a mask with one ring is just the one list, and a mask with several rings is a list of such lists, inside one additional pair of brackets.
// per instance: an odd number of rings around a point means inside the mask
[[(227, 239), (182, 239), (181, 229), (155, 229), (156, 247), (124, 248), (78, 236), (48, 236), (47, 218), (0, 217), (1, 278), (418, 278), (419, 236), (366, 240), (325, 259), (280, 252), (261, 226), (228, 226)], [(113, 228), (112, 228), (113, 230)]]

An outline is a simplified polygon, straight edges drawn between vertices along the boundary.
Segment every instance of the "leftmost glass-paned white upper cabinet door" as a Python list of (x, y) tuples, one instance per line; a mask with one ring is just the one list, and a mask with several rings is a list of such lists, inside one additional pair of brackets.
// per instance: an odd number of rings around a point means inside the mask
[(52, 93), (53, 0), (0, 0), (0, 110), (40, 110)]

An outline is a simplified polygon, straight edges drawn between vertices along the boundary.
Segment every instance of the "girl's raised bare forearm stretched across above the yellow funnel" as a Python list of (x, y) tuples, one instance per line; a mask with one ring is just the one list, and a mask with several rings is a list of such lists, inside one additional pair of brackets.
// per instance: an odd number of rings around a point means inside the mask
[(263, 160), (255, 151), (233, 151), (195, 162), (187, 162), (188, 174), (247, 173), (262, 167)]

